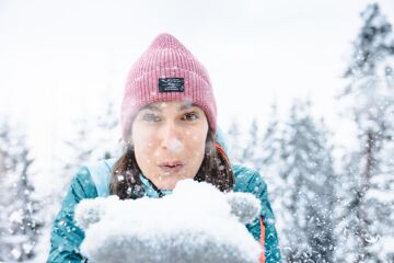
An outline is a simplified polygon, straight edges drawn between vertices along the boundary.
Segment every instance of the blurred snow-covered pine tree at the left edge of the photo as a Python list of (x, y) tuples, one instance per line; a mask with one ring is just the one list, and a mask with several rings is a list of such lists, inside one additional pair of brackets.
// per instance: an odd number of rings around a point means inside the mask
[(24, 137), (8, 121), (0, 124), (0, 262), (26, 262), (35, 256), (40, 204), (34, 198), (34, 159)]

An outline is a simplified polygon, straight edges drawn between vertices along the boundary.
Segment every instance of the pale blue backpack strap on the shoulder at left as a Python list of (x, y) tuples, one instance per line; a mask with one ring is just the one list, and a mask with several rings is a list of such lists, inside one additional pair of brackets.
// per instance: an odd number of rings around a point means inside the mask
[(96, 186), (99, 197), (109, 195), (111, 173), (115, 161), (116, 159), (107, 159), (85, 164)]

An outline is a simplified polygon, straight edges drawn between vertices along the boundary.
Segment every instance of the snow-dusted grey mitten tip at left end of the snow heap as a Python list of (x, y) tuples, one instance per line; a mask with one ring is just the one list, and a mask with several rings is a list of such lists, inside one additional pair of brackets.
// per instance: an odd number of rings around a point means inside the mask
[(81, 228), (88, 229), (92, 224), (99, 222), (103, 218), (107, 205), (114, 204), (114, 201), (118, 199), (117, 195), (111, 195), (107, 198), (97, 197), (81, 201), (76, 208), (74, 219), (77, 224)]

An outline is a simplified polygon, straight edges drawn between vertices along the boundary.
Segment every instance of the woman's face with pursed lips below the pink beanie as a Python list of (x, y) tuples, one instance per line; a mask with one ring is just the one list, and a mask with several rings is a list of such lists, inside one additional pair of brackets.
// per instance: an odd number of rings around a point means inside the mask
[(187, 102), (152, 103), (132, 123), (131, 144), (143, 175), (162, 190), (193, 179), (204, 160), (208, 121)]

